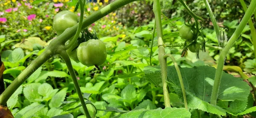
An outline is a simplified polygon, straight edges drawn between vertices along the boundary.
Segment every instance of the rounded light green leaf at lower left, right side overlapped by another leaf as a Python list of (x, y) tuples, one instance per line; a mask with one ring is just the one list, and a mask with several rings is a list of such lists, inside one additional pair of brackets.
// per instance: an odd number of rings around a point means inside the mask
[(41, 98), (41, 95), (38, 94), (38, 87), (41, 85), (41, 83), (29, 83), (26, 84), (23, 93), (26, 99), (28, 99), (30, 102), (37, 102), (37, 101), (43, 101)]

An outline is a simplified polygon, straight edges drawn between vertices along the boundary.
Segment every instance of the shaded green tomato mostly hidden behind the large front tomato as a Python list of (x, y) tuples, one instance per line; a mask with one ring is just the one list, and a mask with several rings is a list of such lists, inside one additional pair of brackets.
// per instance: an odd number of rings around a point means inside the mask
[[(68, 40), (65, 45), (68, 45), (70, 43), (70, 40)], [(73, 44), (73, 46), (71, 46), (69, 49), (66, 50), (67, 54), (69, 55), (69, 57), (71, 59), (73, 59), (74, 61), (76, 61), (76, 63), (79, 63), (79, 59), (77, 58), (77, 47), (79, 46), (78, 40), (76, 41), (75, 44)]]

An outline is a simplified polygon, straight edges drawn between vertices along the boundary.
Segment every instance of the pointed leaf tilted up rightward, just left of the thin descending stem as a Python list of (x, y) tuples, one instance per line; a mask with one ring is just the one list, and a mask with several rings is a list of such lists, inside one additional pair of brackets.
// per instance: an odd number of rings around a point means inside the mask
[(67, 88), (61, 89), (57, 94), (52, 97), (52, 100), (49, 102), (49, 107), (59, 107), (64, 101), (67, 94)]

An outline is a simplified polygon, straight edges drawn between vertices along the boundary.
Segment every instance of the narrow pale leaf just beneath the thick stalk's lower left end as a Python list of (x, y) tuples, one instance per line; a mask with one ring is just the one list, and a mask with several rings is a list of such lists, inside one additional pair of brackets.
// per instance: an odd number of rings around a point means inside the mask
[(7, 106), (8, 109), (12, 109), (18, 102), (18, 97), (22, 93), (23, 87), (20, 86), (13, 94), (12, 96), (8, 99), (7, 101)]

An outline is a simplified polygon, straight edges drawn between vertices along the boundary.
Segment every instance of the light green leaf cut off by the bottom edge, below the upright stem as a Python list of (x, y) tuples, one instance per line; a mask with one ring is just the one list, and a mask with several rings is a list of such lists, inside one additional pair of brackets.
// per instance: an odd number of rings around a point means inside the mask
[(190, 118), (191, 113), (185, 108), (154, 109), (154, 110), (132, 110), (130, 112), (117, 115), (113, 118)]

